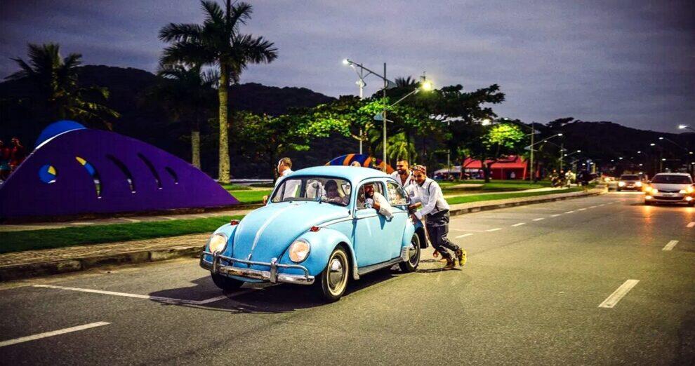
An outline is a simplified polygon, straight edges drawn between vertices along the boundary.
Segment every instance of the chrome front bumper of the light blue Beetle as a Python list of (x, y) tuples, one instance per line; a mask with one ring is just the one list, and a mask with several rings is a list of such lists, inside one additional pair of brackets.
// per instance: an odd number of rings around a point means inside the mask
[[(206, 261), (206, 255), (211, 255), (213, 257), (213, 261)], [(220, 264), (220, 259), (224, 259), (225, 261), (230, 262), (232, 264), (240, 263), (246, 264), (248, 266), (267, 266), (270, 270), (259, 271), (258, 269), (240, 268), (235, 266), (223, 266), (222, 264)], [(203, 253), (200, 256), (200, 266), (216, 274), (253, 278), (256, 280), (269, 281), (270, 283), (282, 282), (295, 283), (297, 285), (311, 285), (312, 283), (314, 283), (314, 276), (309, 275), (309, 270), (307, 270), (305, 266), (300, 266), (298, 264), (279, 264), (277, 263), (277, 258), (270, 259), (270, 263), (253, 262), (235, 259), (231, 257), (225, 257), (224, 255), (220, 255), (219, 253), (203, 251)], [(304, 275), (277, 273), (277, 269), (279, 268), (300, 269), (304, 272)]]

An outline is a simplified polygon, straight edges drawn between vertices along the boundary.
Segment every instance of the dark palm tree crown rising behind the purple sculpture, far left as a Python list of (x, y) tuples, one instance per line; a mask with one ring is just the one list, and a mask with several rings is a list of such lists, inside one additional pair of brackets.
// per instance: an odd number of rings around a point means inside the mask
[[(70, 53), (60, 57), (60, 45), (46, 43), (41, 46), (29, 43), (29, 62), (13, 58), (20, 71), (5, 79), (28, 79), (39, 92), (39, 115), (41, 119), (52, 122), (58, 119), (101, 124), (111, 129), (110, 120), (120, 114), (101, 102), (109, 98), (107, 88), (81, 88), (77, 82), (77, 67), (82, 55)], [(46, 121), (44, 121), (46, 122)]]

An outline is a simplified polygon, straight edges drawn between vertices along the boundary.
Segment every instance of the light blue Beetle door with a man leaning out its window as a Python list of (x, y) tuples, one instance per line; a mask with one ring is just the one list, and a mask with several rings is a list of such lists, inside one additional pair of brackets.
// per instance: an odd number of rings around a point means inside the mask
[(357, 266), (364, 267), (371, 264), (386, 262), (391, 259), (392, 243), (386, 235), (388, 220), (379, 215), (373, 208), (364, 205), (364, 186), (374, 184), (374, 191), (384, 193), (383, 182), (364, 182), (357, 190), (355, 200), (355, 224), (352, 226), (352, 247), (357, 257)]

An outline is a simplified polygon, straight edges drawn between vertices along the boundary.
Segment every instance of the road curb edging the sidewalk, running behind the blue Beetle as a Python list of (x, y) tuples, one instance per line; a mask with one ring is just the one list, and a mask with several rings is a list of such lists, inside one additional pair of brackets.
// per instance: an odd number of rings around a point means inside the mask
[[(504, 202), (504, 203), (463, 203), (460, 205), (472, 205), (466, 208), (456, 208), (452, 205), (451, 215), (465, 215), (468, 213), (496, 210), (500, 208), (510, 208), (520, 205), (532, 205), (535, 203), (547, 203), (553, 201), (563, 201), (571, 198), (583, 198), (604, 194), (604, 191), (591, 191), (588, 193), (572, 192), (562, 194), (563, 196), (554, 197), (529, 197), (523, 201)], [(98, 244), (96, 244), (98, 245)], [(177, 245), (169, 248), (158, 248), (150, 250), (134, 250), (130, 252), (119, 252), (110, 255), (93, 255), (76, 258), (60, 259), (48, 262), (29, 262), (22, 264), (8, 264), (0, 266), (0, 282), (9, 280), (21, 280), (25, 278), (50, 276), (60, 273), (75, 271), (86, 271), (101, 266), (117, 266), (121, 264), (138, 264), (146, 262), (159, 262), (168, 259), (182, 257), (199, 257), (203, 247), (201, 245)]]

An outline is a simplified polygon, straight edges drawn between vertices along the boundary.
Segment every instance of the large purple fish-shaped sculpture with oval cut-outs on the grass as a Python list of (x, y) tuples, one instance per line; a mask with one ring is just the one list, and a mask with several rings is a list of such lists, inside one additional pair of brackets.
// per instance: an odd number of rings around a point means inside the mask
[(238, 203), (180, 158), (130, 137), (91, 129), (67, 130), (41, 142), (0, 186), (0, 219)]

